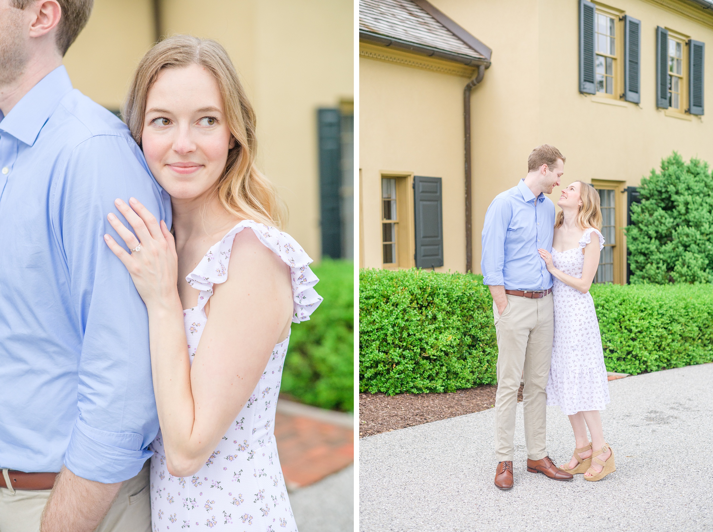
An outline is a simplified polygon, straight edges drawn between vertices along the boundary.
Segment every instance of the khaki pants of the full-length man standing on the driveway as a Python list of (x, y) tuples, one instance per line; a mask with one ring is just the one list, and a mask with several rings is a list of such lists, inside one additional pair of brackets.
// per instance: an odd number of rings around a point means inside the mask
[(545, 387), (550, 375), (554, 333), (552, 293), (540, 299), (509, 295), (507, 298), (508, 305), (502, 315), (498, 313), (498, 307), (493, 302), (493, 316), (498, 335), (496, 455), (498, 461), (513, 459), (515, 410), (522, 376), (525, 381), (523, 414), (528, 459), (540, 460), (547, 455)]

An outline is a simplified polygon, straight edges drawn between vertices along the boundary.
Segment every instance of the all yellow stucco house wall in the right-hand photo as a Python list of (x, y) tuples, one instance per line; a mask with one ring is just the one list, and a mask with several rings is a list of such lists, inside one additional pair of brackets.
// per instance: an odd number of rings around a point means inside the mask
[[(655, 102), (655, 28), (665, 26), (713, 46), (713, 16), (705, 16), (687, 1), (675, 3), (682, 11), (701, 14), (696, 21), (651, 0), (621, 0), (610, 6), (642, 22), (641, 103), (606, 105), (578, 91), (578, 2), (558, 0), (432, 0), (432, 3), (493, 49), (492, 66), (473, 90), (473, 268), (480, 271), (481, 231), (493, 197), (525, 177), (527, 157), (545, 142), (565, 157), (563, 184), (575, 179), (606, 179), (636, 185), (658, 167), (660, 159), (677, 150), (685, 159), (697, 156), (713, 163), (713, 121), (709, 116), (682, 120), (665, 115)], [(463, 271), (463, 150), (461, 91), (465, 78), (419, 71), (416, 68), (361, 59), (361, 150), (364, 169), (364, 266), (380, 267), (378, 189), (374, 169), (399, 154), (401, 165), (431, 175), (448, 173), (453, 194), (444, 179), (443, 225), (446, 269)], [(686, 67), (687, 68), (687, 67)], [(706, 56), (708, 82), (713, 55)], [(366, 73), (366, 75), (365, 75)], [(379, 75), (376, 75), (378, 73)], [(440, 92), (417, 100), (421, 80), (438, 78)], [(391, 95), (382, 95), (385, 92)], [(411, 95), (411, 93), (414, 93)], [(380, 95), (380, 96), (376, 96)], [(379, 100), (411, 102), (389, 106)], [(376, 100), (376, 103), (374, 103)], [(707, 114), (713, 113), (713, 83), (705, 84)], [(370, 110), (374, 105), (376, 110)], [(448, 150), (414, 149), (412, 135), (391, 135), (388, 145), (374, 150), (367, 132), (411, 131), (414, 116), (431, 127), (424, 135), (443, 142)], [(371, 123), (369, 123), (371, 120)], [(391, 123), (392, 121), (396, 123)], [(441, 137), (443, 135), (443, 137)], [(424, 139), (425, 141), (426, 139)], [(394, 157), (394, 155), (391, 155)], [(409, 166), (410, 165), (410, 166)], [(388, 165), (387, 165), (388, 166)], [(367, 172), (366, 169), (369, 169)], [(437, 173), (437, 172), (440, 172)], [(457, 185), (457, 186), (456, 186)], [(376, 199), (373, 199), (376, 197)], [(559, 194), (552, 194), (553, 201)], [(450, 213), (450, 214), (446, 214)], [(450, 217), (451, 221), (447, 220)]]

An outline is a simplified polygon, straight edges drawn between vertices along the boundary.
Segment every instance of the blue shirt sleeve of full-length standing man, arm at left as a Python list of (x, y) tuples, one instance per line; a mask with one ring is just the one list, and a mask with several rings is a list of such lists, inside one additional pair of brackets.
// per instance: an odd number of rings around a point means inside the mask
[(505, 239), (512, 209), (505, 199), (496, 197), (488, 207), (483, 224), (481, 271), (483, 284), (504, 286), (503, 266), (505, 264)]

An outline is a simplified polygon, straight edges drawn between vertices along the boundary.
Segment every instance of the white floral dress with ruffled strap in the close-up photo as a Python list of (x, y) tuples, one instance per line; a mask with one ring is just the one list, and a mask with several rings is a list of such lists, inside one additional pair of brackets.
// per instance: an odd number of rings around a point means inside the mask
[[(243, 229), (254, 231), (262, 244), (289, 266), (293, 323), (309, 320), (322, 302), (314, 291), (319, 279), (309, 268), (312, 259), (292, 236), (252, 220), (241, 221), (208, 250), (186, 277), (191, 286), (200, 290), (198, 305), (183, 311), (191, 363), (205, 328), (205, 303), (212, 296), (213, 285), (227, 279), (232, 242)], [(297, 531), (275, 445), (275, 407), (288, 343), (289, 336), (275, 345), (250, 399), (195, 475), (176, 477), (168, 473), (163, 439), (158, 432), (149, 447), (153, 451), (150, 497), (154, 531)]]

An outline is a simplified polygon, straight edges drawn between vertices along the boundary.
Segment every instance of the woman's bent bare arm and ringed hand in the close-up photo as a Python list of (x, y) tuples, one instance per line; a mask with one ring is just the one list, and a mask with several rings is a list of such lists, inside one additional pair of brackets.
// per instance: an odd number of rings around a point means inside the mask
[[(107, 244), (128, 268), (148, 310), (153, 387), (168, 470), (190, 476), (205, 464), (255, 390), (292, 317), (289, 268), (252, 231), (237, 234), (230, 276), (215, 285), (210, 321), (191, 366), (173, 236), (143, 206), (132, 206), (136, 212), (117, 204), (139, 236), (141, 250), (128, 254), (111, 237)], [(125, 227), (122, 232), (118, 219), (118, 225), (111, 223), (135, 247), (135, 236)]]

